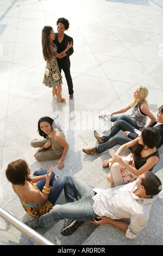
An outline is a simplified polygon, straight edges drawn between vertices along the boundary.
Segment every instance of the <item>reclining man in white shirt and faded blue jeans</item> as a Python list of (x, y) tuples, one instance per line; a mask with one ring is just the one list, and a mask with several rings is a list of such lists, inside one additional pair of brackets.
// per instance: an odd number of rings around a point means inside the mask
[[(143, 173), (127, 185), (103, 190), (94, 188), (74, 176), (65, 176), (66, 204), (55, 205), (47, 214), (26, 222), (32, 228), (51, 227), (67, 219), (62, 235), (71, 235), (84, 221), (109, 223), (135, 238), (146, 226), (156, 194), (161, 191), (160, 179), (151, 172)], [(120, 221), (130, 218), (130, 223)]]

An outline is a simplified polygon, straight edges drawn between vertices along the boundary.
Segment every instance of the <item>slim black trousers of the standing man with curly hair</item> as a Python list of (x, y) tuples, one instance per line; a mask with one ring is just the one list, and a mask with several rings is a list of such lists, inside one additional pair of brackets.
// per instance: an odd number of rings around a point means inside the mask
[(71, 95), (71, 94), (73, 94), (73, 83), (72, 83), (72, 77), (70, 74), (70, 59), (69, 58), (62, 58), (62, 59), (57, 58), (57, 61), (58, 61), (60, 72), (61, 72), (61, 70), (63, 70), (65, 73), (65, 78), (66, 78), (67, 86), (68, 86), (68, 93)]

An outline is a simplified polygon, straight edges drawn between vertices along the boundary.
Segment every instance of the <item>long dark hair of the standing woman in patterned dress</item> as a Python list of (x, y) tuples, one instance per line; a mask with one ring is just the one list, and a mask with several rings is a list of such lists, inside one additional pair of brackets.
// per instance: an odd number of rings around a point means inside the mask
[(52, 60), (50, 42), (48, 39), (48, 36), (51, 34), (52, 29), (53, 28), (51, 26), (45, 26), (42, 29), (42, 53), (43, 53), (43, 58), (48, 61)]

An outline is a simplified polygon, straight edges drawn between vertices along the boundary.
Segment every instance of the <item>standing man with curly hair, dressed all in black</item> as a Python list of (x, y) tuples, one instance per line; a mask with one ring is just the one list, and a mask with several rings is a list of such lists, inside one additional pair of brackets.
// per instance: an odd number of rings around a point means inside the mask
[(70, 94), (70, 99), (73, 99), (73, 83), (72, 83), (72, 77), (70, 74), (70, 56), (73, 53), (73, 39), (66, 35), (64, 32), (68, 30), (70, 26), (70, 23), (67, 19), (65, 18), (59, 18), (57, 20), (57, 33), (55, 33), (55, 40), (53, 41), (55, 45), (57, 45), (58, 48), (58, 53), (62, 52), (65, 50), (65, 46), (67, 46), (68, 42), (72, 42), (72, 47), (64, 53), (61, 57), (57, 58), (58, 65), (60, 72), (61, 70), (64, 71), (66, 81), (67, 81), (67, 86), (68, 86), (68, 93)]

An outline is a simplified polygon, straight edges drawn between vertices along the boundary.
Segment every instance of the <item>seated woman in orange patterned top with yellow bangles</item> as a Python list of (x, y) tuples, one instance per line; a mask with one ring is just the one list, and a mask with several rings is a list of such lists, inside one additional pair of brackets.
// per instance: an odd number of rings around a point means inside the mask
[[(6, 170), (7, 179), (20, 198), (24, 210), (33, 217), (39, 217), (52, 209), (65, 186), (64, 181), (55, 179), (53, 167), (41, 172), (44, 174), (29, 177), (30, 168), (23, 159), (9, 163)], [(33, 184), (35, 182), (38, 182), (36, 186)]]

